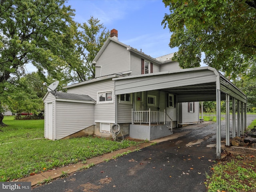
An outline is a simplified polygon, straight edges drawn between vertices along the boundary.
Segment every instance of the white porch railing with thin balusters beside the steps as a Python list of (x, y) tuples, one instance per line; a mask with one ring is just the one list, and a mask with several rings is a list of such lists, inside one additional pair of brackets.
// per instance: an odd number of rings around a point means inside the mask
[(132, 124), (134, 123), (147, 123), (150, 124), (166, 124), (172, 130), (172, 118), (166, 114), (165, 110), (160, 111), (134, 111), (132, 109)]

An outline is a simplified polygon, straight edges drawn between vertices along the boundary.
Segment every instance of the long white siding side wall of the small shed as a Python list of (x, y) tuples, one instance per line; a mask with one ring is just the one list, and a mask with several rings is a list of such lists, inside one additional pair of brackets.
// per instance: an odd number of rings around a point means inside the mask
[(57, 101), (56, 138), (61, 139), (94, 124), (94, 104)]

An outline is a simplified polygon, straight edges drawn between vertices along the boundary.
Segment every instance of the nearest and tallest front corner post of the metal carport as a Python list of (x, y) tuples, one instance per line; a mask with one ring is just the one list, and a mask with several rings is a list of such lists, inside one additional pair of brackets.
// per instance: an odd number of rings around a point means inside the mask
[(220, 90), (216, 89), (216, 159), (221, 158), (221, 113), (220, 113)]

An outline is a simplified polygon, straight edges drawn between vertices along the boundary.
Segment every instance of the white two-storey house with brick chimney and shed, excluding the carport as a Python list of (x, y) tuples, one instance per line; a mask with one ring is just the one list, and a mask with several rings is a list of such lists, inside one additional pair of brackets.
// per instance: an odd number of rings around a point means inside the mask
[[(179, 125), (199, 123), (198, 102), (178, 104), (176, 94), (158, 90), (155, 86), (152, 86), (152, 90), (136, 92), (131, 90), (126, 94), (115, 95), (115, 78), (146, 77), (159, 72), (180, 70), (178, 62), (171, 60), (173, 54), (152, 58), (119, 42), (117, 36), (117, 31), (112, 30), (111, 37), (94, 58), (96, 74), (94, 79), (65, 87), (67, 95), (76, 94), (76, 96), (84, 95), (92, 98), (90, 104), (79, 99), (60, 100), (63, 93), (59, 92), (56, 95), (54, 92), (46, 94), (44, 97), (47, 114), (46, 138), (53, 140), (65, 138), (91, 126), (94, 126), (94, 134), (111, 137), (113, 124), (118, 124), (120, 135), (153, 140), (172, 134), (172, 128)], [(136, 82), (136, 84), (140, 83), (142, 81)], [(95, 104), (92, 105), (91, 101)], [(61, 104), (65, 107), (61, 108)], [(69, 110), (75, 105), (87, 112), (90, 111), (93, 115), (90, 117), (91, 124), (85, 124), (80, 108), (76, 110), (77, 115), (72, 114), (76, 122), (70, 119)], [(51, 112), (47, 113), (49, 110)], [(77, 119), (79, 116), (81, 120)]]

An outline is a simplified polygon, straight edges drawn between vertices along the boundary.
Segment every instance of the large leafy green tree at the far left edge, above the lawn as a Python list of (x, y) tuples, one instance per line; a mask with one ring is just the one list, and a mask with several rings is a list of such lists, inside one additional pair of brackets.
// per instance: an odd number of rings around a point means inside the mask
[[(33, 64), (40, 75), (58, 78), (72, 54), (72, 16), (65, 0), (0, 0), (0, 101), (6, 83)], [(68, 57), (68, 56), (66, 56)], [(0, 104), (0, 113), (3, 107)], [(0, 118), (0, 123), (2, 120)]]

